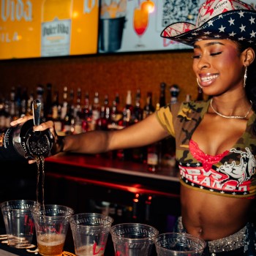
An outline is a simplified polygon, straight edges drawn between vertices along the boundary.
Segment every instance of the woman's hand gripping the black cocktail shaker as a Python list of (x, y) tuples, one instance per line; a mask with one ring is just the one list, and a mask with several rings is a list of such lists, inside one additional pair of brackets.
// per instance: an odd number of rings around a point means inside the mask
[[(18, 118), (15, 121), (12, 121), (10, 124), (12, 127), (15, 127), (18, 124), (23, 124), (26, 121), (29, 121), (29, 119), (33, 118), (33, 116), (23, 116), (21, 118)], [(49, 129), (51, 134), (53, 135), (53, 147), (50, 150), (51, 155), (58, 154), (59, 152), (63, 151), (64, 147), (64, 136), (59, 136), (56, 133), (56, 130), (54, 128), (54, 122), (53, 121), (46, 121), (45, 123), (39, 124), (38, 126), (33, 127), (34, 131), (44, 131), (45, 129)], [(29, 164), (36, 162), (36, 160), (29, 160)]]

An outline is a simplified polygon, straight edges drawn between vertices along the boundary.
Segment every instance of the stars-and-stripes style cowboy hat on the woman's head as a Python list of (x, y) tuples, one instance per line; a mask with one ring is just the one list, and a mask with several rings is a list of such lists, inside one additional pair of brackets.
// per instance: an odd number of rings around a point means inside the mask
[(203, 39), (231, 39), (256, 45), (256, 10), (238, 0), (206, 0), (196, 24), (170, 24), (161, 37), (191, 46)]

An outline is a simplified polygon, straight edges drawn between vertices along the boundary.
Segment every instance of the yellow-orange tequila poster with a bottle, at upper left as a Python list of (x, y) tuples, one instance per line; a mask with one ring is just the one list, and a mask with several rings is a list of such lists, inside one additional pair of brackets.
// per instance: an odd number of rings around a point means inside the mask
[(99, 0), (1, 0), (0, 59), (97, 53)]

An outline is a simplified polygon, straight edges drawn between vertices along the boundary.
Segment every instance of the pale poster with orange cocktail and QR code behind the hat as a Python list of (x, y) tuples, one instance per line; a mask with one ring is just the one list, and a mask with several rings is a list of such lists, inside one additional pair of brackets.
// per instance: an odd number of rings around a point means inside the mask
[[(196, 23), (204, 0), (102, 0), (99, 53), (191, 49), (160, 37), (170, 23)], [(256, 6), (255, 0), (244, 0)]]

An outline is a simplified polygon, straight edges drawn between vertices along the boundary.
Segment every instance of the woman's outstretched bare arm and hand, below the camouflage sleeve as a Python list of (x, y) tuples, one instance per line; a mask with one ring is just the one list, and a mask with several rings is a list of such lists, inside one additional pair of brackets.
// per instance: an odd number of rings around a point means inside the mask
[[(28, 120), (31, 117), (19, 118), (12, 126)], [(91, 131), (78, 135), (58, 136), (53, 121), (47, 121), (34, 127), (35, 131), (50, 129), (55, 138), (52, 154), (60, 151), (83, 154), (95, 154), (117, 148), (134, 148), (145, 146), (167, 137), (167, 132), (159, 124), (156, 113), (130, 127), (115, 131)]]

